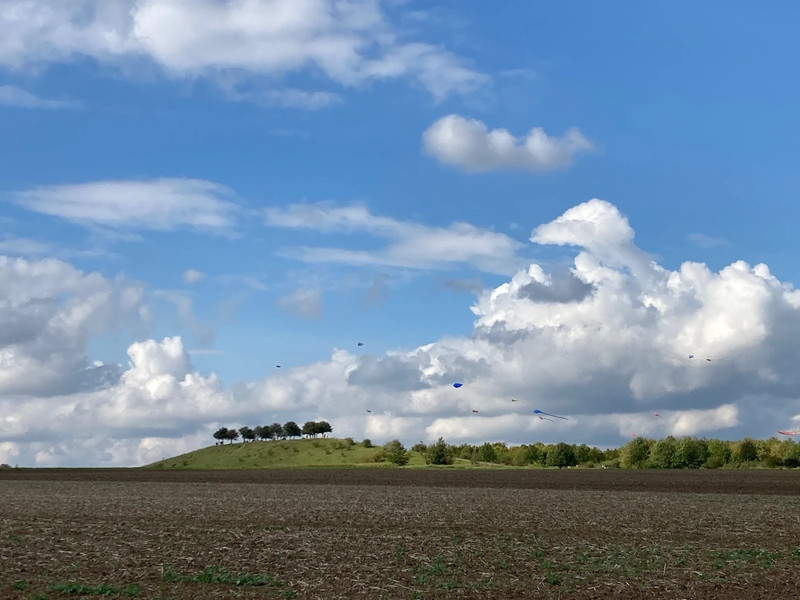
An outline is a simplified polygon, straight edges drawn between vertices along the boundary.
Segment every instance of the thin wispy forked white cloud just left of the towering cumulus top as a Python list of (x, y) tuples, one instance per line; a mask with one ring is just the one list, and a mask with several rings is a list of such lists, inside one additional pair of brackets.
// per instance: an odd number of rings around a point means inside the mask
[(370, 250), (295, 247), (286, 256), (310, 263), (335, 262), (412, 269), (447, 269), (470, 265), (490, 273), (513, 273), (522, 260), (521, 244), (505, 234), (468, 223), (429, 227), (373, 215), (362, 204), (292, 204), (270, 208), (266, 222), (272, 227), (311, 229), (323, 233), (366, 232), (389, 240), (386, 247)]

